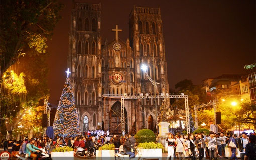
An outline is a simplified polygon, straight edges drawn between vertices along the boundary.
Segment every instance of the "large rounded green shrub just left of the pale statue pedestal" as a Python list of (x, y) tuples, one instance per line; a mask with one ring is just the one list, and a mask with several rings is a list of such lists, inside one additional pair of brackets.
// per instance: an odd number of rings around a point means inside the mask
[(155, 142), (156, 135), (152, 130), (142, 129), (135, 134), (136, 143)]

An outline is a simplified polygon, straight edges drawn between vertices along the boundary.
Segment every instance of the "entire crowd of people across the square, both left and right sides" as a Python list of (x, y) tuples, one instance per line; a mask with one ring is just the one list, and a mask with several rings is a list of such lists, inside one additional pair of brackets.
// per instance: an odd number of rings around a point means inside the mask
[[(83, 136), (76, 138), (56, 137), (55, 139), (45, 136), (40, 139), (24, 138), (19, 140), (2, 140), (4, 150), (11, 153), (12, 156), (19, 154), (24, 157), (33, 157), (33, 160), (38, 158), (38, 150), (43, 148), (50, 155), (55, 147), (69, 146), (74, 150), (77, 147), (92, 150), (92, 156), (95, 156), (96, 150), (104, 144), (113, 144), (115, 153), (122, 152), (129, 155), (129, 159), (135, 157), (135, 148), (137, 146), (136, 140), (132, 134), (125, 134), (125, 136), (113, 135), (110, 137), (109, 132), (98, 130), (88, 131)], [(237, 159), (237, 150), (240, 152), (241, 160), (256, 159), (256, 136), (253, 134), (247, 135), (243, 132), (239, 137), (233, 133), (223, 132), (215, 134), (210, 132), (205, 135), (204, 132), (182, 135), (168, 134), (166, 139), (166, 147), (168, 151), (168, 158), (184, 160), (191, 158), (195, 160), (199, 158), (202, 160), (206, 157), (210, 159), (217, 159), (218, 157), (225, 157), (225, 148), (228, 147), (230, 151), (230, 158)]]

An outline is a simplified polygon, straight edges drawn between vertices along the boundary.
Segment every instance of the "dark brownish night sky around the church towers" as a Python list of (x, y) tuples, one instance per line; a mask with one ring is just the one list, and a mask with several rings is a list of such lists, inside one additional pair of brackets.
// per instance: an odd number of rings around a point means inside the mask
[[(60, 0), (65, 8), (48, 41), (49, 89), (52, 104), (60, 99), (67, 69), (68, 36), (72, 0)], [(221, 74), (247, 74), (244, 65), (256, 61), (255, 0), (79, 0), (101, 2), (102, 43), (129, 37), (128, 16), (133, 5), (160, 7), (170, 88), (184, 79), (201, 84)]]

